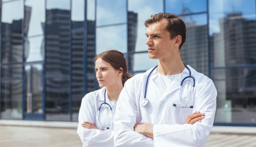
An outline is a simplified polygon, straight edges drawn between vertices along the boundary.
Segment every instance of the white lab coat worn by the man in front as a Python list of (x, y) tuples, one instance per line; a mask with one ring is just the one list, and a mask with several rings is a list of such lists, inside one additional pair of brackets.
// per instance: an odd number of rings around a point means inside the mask
[[(189, 75), (186, 68), (165, 92), (154, 70), (148, 81), (146, 98), (149, 102), (144, 107), (141, 103), (146, 78), (153, 68), (126, 81), (114, 119), (115, 147), (203, 147), (206, 144), (216, 112), (217, 91), (211, 79), (188, 67), (195, 77), (194, 95), (188, 104), (193, 105), (193, 109), (173, 106), (173, 103), (180, 105), (180, 82)], [(202, 122), (184, 124), (187, 116), (197, 111), (205, 113)], [(140, 123), (154, 124), (154, 139), (133, 131), (135, 124)]]

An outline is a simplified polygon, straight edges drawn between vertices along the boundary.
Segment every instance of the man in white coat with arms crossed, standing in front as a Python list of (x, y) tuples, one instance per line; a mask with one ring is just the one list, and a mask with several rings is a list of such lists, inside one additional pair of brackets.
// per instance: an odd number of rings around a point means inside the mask
[[(145, 26), (148, 55), (158, 59), (158, 66), (126, 81), (117, 102), (115, 147), (203, 147), (216, 112), (213, 81), (183, 64), (186, 26), (180, 17), (158, 13)], [(205, 118), (184, 124), (198, 112)]]

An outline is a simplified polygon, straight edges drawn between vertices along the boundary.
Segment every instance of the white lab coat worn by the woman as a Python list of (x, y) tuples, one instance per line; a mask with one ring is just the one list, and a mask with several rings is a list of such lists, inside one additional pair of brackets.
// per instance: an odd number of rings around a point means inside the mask
[[(97, 123), (97, 113), (101, 103), (104, 102), (105, 90), (106, 88), (101, 88), (90, 92), (82, 99), (81, 108), (79, 110), (77, 134), (83, 143), (83, 147), (114, 147), (113, 127), (101, 130)], [(112, 108), (107, 93), (106, 103), (108, 103)], [(112, 112), (115, 114), (115, 108), (112, 108)], [(94, 123), (98, 129), (85, 129), (82, 127), (82, 123), (85, 121)]]

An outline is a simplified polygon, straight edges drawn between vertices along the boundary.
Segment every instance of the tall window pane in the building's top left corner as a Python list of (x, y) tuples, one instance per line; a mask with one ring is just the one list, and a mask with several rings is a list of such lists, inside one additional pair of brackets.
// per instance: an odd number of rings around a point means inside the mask
[(22, 61), (23, 1), (2, 4), (2, 63)]

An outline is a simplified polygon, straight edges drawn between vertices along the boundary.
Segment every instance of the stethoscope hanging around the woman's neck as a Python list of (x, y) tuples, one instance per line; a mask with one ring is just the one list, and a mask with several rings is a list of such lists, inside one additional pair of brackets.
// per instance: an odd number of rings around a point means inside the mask
[[(108, 107), (105, 107), (105, 106), (103, 106), (103, 107), (101, 107), (103, 104), (106, 104), (106, 105), (108, 105)], [(111, 122), (110, 122), (110, 127), (103, 127), (102, 125), (101, 125), (101, 123), (100, 123), (100, 120), (99, 120), (99, 118), (100, 118), (100, 111), (102, 110), (102, 109), (106, 109), (107, 111), (108, 111), (108, 113), (110, 113), (111, 114)], [(102, 130), (104, 130), (104, 129), (110, 129), (111, 127), (112, 127), (112, 124), (113, 124), (113, 114), (112, 114), (112, 108), (111, 108), (111, 106), (108, 104), (108, 103), (106, 103), (106, 90), (105, 90), (105, 93), (104, 93), (104, 102), (103, 103), (101, 103), (101, 105), (100, 105), (100, 107), (99, 107), (99, 110), (98, 110), (98, 114), (97, 114), (97, 119), (98, 119), (98, 121), (97, 121), (97, 123), (98, 123), (98, 126), (102, 129)]]

